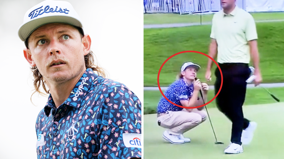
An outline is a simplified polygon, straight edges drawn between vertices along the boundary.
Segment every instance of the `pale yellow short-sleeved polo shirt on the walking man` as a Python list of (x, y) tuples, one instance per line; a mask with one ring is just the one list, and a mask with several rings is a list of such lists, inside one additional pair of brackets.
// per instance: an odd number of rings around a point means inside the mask
[(221, 10), (213, 16), (210, 37), (217, 41), (217, 62), (249, 63), (248, 41), (257, 39), (254, 18), (237, 6), (230, 14)]

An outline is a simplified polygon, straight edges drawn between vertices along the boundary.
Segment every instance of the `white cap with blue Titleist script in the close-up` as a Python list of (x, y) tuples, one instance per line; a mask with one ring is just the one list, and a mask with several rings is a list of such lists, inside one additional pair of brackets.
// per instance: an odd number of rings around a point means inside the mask
[(35, 29), (49, 23), (70, 24), (81, 28), (83, 32), (81, 19), (69, 2), (46, 0), (26, 12), (18, 36), (25, 41)]

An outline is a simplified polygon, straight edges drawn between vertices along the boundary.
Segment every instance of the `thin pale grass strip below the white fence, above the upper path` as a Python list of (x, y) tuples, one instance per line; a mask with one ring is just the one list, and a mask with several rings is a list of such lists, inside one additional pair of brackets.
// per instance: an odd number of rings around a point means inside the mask
[[(251, 13), (255, 20), (284, 19), (284, 12)], [(201, 21), (211, 22), (213, 14), (202, 14)], [(200, 14), (144, 14), (144, 24), (200, 23)]]

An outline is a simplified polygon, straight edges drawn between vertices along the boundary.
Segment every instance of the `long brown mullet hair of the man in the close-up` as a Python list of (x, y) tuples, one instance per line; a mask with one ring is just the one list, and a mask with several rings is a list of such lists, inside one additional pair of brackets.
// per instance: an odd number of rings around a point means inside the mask
[[(72, 27), (75, 27), (75, 26), (72, 26)], [(79, 28), (79, 27), (75, 27), (76, 29), (78, 29), (79, 33), (80, 33), (80, 36), (81, 36), (81, 40), (82, 40), (82, 37), (83, 37), (83, 32), (82, 30)], [(29, 37), (28, 37), (29, 38)], [(27, 38), (27, 42), (28, 42), (28, 38)], [(28, 48), (28, 45), (27, 45), (27, 48)], [(93, 54), (92, 51), (90, 51), (87, 55), (84, 56), (84, 60), (85, 60), (85, 67), (86, 69), (87, 68), (90, 68), (92, 69), (93, 71), (96, 71), (98, 72), (98, 75), (99, 76), (102, 76), (102, 77), (106, 77), (106, 72), (105, 70), (102, 68), (102, 67), (99, 67), (98, 64), (94, 64), (95, 63), (95, 60), (94, 60), (94, 57), (96, 57), (95, 54)], [(31, 71), (33, 72), (33, 77), (35, 78), (33, 80), (33, 86), (35, 87), (35, 91), (33, 92), (33, 94), (35, 94), (36, 92), (38, 92), (40, 95), (43, 95), (43, 96), (46, 96), (45, 93), (41, 92), (40, 91), (40, 87), (42, 85), (43, 87), (43, 90), (49, 94), (50, 90), (47, 89), (47, 85), (46, 85), (46, 81), (44, 80), (43, 76), (41, 75), (41, 73), (39, 72), (38, 68), (36, 66), (34, 67), (31, 67), (30, 68)], [(30, 97), (30, 101), (32, 102), (32, 96), (33, 94), (31, 95)], [(32, 102), (33, 103), (33, 102)]]

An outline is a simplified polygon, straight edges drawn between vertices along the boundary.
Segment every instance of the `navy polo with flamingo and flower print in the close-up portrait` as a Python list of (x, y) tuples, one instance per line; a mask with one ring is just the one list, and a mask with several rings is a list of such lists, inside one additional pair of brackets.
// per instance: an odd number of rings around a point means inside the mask
[(51, 95), (36, 120), (38, 159), (141, 158), (141, 102), (125, 85), (86, 69), (68, 99)]

